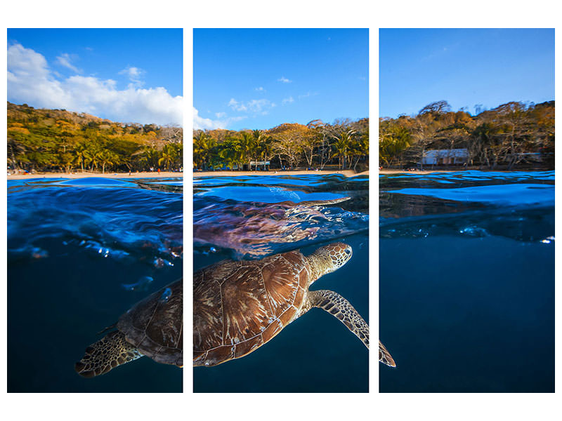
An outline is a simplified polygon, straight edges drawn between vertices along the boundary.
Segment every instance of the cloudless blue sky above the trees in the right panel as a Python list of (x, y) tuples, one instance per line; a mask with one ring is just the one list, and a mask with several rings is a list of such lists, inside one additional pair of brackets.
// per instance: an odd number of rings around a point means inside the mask
[(554, 100), (554, 29), (380, 29), (379, 114)]

